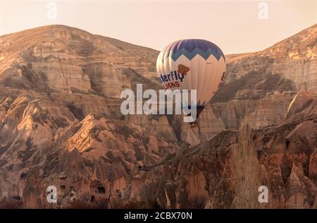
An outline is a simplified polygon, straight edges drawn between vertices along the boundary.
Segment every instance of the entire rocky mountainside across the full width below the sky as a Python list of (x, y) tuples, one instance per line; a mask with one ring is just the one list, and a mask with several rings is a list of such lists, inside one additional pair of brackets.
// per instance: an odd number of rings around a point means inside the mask
[(316, 29), (228, 55), (198, 128), (181, 116), (121, 115), (122, 90), (160, 89), (153, 49), (63, 25), (1, 36), (0, 199), (54, 207), (54, 185), (57, 207), (232, 207), (230, 150), (248, 123), (269, 207), (316, 207)]

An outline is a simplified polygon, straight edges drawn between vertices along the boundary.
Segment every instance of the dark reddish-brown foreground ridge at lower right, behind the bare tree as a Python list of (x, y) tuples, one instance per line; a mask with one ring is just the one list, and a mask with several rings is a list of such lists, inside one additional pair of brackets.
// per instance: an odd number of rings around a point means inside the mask
[[(165, 202), (169, 207), (317, 208), (316, 130), (317, 95), (301, 91), (279, 125), (222, 131), (184, 150), (169, 166)], [(250, 199), (258, 199), (259, 185), (268, 187), (268, 203), (250, 205)]]

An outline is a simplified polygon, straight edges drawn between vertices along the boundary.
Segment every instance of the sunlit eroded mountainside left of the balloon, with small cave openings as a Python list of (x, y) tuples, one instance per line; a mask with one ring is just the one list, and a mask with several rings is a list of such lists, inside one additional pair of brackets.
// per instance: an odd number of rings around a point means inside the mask
[(61, 25), (0, 42), (1, 199), (45, 207), (49, 185), (62, 206), (129, 199), (137, 172), (180, 149), (164, 122), (135, 126), (118, 110), (123, 89), (159, 89), (155, 50)]

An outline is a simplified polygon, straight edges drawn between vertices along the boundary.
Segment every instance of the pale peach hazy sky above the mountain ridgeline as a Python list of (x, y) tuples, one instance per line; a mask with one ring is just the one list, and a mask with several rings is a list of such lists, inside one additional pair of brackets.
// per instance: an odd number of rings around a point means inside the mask
[(316, 0), (265, 2), (267, 10), (261, 1), (0, 0), (0, 35), (63, 24), (159, 50), (201, 38), (231, 54), (265, 49), (317, 23)]

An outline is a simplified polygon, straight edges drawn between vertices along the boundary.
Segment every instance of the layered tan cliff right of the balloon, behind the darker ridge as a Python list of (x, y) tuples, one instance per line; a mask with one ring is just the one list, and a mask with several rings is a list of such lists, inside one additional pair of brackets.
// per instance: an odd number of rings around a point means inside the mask
[(276, 125), (298, 90), (317, 90), (316, 35), (313, 25), (261, 52), (226, 56), (225, 85), (212, 100), (226, 128)]

